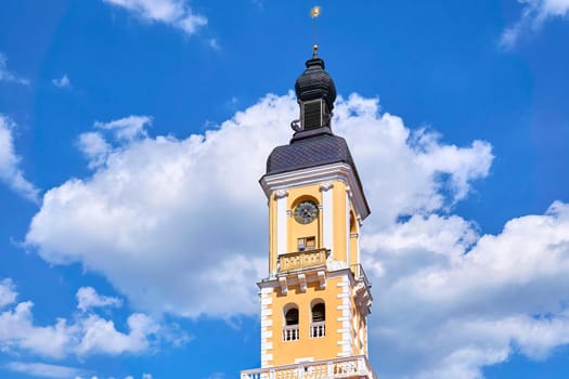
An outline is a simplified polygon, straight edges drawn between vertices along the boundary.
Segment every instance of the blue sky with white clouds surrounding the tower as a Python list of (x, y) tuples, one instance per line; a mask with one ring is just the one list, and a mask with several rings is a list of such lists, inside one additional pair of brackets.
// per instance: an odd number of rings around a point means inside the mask
[[(315, 3), (0, 5), (0, 377), (258, 367)], [(322, 1), (382, 378), (566, 378), (569, 2)]]

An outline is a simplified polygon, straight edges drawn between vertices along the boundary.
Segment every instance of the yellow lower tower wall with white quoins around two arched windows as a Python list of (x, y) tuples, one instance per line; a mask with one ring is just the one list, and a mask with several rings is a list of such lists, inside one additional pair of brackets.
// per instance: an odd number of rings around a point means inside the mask
[[(260, 285), (262, 288), (262, 283)], [(365, 349), (360, 348), (358, 330), (363, 327), (365, 331), (365, 317), (358, 311), (352, 295), (352, 275), (347, 270), (329, 277), (325, 287), (321, 287), (319, 282), (311, 282), (301, 290), (298, 284), (289, 284), (286, 293), (277, 286), (262, 288), (263, 367), (364, 354)], [(324, 301), (326, 309), (325, 336), (311, 338), (311, 305), (320, 300)], [(298, 339), (285, 340), (285, 311), (293, 303), (299, 311)]]

